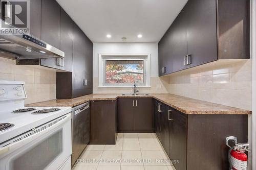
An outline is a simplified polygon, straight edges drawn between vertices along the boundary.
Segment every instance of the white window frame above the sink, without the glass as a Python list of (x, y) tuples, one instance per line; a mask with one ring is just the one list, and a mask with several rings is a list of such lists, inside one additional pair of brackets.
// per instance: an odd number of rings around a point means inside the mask
[(143, 60), (143, 83), (136, 83), (136, 86), (150, 87), (150, 54), (99, 54), (98, 87), (133, 87), (134, 83), (105, 83), (106, 60)]

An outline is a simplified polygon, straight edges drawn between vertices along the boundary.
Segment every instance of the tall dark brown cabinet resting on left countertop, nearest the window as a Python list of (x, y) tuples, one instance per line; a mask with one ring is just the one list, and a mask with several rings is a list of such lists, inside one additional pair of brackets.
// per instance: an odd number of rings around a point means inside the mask
[(57, 72), (57, 99), (73, 99), (93, 92), (93, 43), (75, 22), (72, 52), (72, 72)]

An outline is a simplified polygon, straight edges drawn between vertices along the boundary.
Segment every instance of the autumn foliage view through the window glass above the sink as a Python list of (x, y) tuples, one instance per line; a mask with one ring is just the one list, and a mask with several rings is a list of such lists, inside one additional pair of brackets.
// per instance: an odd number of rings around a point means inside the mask
[(143, 83), (143, 60), (106, 60), (106, 83)]

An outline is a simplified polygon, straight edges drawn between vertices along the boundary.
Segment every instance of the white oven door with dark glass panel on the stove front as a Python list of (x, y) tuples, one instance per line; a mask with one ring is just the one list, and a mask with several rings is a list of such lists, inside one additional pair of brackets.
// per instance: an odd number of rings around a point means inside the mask
[(71, 113), (31, 132), (0, 148), (1, 170), (57, 170), (70, 157)]

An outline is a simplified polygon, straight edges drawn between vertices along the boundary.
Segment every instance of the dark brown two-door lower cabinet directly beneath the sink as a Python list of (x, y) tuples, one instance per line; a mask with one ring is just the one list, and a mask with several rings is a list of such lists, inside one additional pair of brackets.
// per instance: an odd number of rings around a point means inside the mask
[(118, 99), (118, 132), (154, 132), (152, 98)]

